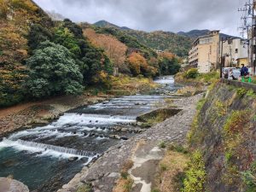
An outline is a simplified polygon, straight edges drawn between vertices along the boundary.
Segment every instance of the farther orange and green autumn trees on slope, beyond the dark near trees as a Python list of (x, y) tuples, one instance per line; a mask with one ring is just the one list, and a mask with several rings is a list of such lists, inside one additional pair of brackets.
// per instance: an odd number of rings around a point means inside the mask
[[(177, 56), (172, 55), (171, 53), (163, 53), (157, 55), (153, 49), (148, 48), (147, 46), (141, 44), (137, 41), (137, 38), (131, 37), (131, 35), (126, 34), (124, 31), (113, 28), (113, 27), (95, 27), (90, 25), (83, 25), (84, 34), (86, 37), (90, 38), (94, 44), (102, 47), (108, 54), (110, 58), (111, 55), (119, 55), (119, 61), (117, 63), (116, 59), (113, 61), (115, 67), (119, 67), (119, 72), (129, 73), (133, 76), (143, 75), (145, 77), (154, 77), (156, 75), (170, 75), (176, 74), (179, 69), (179, 60)], [(107, 42), (108, 39), (108, 42)], [(119, 40), (119, 44), (111, 44)], [(106, 42), (104, 44), (103, 42)], [(126, 48), (125, 48), (125, 46)], [(114, 48), (123, 49), (123, 52), (115, 51)], [(109, 49), (111, 49), (112, 54), (110, 54)], [(125, 49), (126, 53), (125, 53)]]

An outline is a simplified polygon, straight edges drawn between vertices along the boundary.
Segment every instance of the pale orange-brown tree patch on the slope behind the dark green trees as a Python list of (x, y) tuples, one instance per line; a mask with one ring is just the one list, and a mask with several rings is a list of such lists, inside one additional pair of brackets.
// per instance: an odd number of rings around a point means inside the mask
[(115, 67), (121, 67), (124, 64), (127, 47), (118, 39), (110, 35), (98, 34), (90, 28), (84, 30), (84, 36), (89, 38), (90, 42), (96, 47), (104, 49)]

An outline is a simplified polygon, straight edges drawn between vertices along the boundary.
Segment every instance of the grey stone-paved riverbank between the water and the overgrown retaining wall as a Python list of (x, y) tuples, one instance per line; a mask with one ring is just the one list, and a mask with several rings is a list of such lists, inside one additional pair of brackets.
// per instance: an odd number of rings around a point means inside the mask
[(82, 172), (58, 192), (76, 192), (84, 184), (90, 186), (91, 191), (112, 192), (127, 161), (132, 161), (133, 165), (129, 170), (130, 177), (135, 183), (132, 191), (150, 192), (154, 168), (165, 154), (165, 150), (159, 148), (160, 143), (185, 142), (196, 113), (196, 103), (201, 97), (202, 94), (174, 101), (173, 104), (182, 109), (180, 113), (129, 141), (109, 148), (100, 159), (88, 167), (85, 166)]

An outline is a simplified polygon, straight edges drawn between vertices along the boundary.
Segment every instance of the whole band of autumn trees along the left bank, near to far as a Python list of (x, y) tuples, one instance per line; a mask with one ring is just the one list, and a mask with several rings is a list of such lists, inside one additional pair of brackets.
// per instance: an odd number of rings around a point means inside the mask
[(53, 21), (30, 0), (0, 5), (0, 107), (110, 89), (116, 68), (149, 79), (180, 68), (175, 55), (157, 55), (119, 30)]

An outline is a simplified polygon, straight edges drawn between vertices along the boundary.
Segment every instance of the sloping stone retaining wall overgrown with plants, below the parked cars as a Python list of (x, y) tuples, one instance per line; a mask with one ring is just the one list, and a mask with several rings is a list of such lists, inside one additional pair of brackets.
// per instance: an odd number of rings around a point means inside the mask
[(222, 82), (201, 101), (189, 143), (204, 154), (207, 191), (249, 191), (243, 175), (256, 160), (255, 85)]

